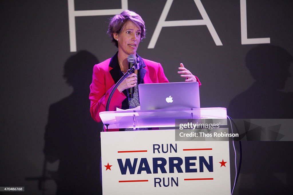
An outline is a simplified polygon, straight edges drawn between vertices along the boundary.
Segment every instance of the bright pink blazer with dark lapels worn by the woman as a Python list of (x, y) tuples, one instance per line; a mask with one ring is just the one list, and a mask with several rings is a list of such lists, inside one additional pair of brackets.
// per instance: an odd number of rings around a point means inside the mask
[[(139, 58), (142, 59), (141, 57)], [(161, 64), (147, 59), (143, 59), (139, 76), (140, 78), (143, 78), (143, 81), (138, 81), (139, 84), (169, 82), (164, 74)], [(91, 101), (91, 117), (96, 122), (101, 122), (99, 113), (105, 111), (109, 95), (115, 83), (118, 82), (121, 77), (122, 72), (118, 63), (117, 53), (112, 58), (109, 58), (94, 66), (89, 99)], [(197, 81), (199, 82), (198, 78)], [(125, 94), (120, 93), (116, 89), (110, 102), (109, 111), (115, 111), (116, 108), (121, 108), (122, 101), (125, 98)]]

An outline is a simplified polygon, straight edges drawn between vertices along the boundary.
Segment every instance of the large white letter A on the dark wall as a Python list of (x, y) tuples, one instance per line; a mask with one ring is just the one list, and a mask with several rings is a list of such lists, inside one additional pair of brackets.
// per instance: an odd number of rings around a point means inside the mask
[(162, 27), (171, 27), (171, 26), (197, 26), (197, 25), (206, 25), (207, 29), (209, 30), (209, 33), (211, 33), (214, 42), (216, 45), (223, 45), (211, 20), (209, 19), (209, 16), (207, 15), (207, 12), (205, 11), (205, 8), (203, 7), (200, 0), (194, 0), (198, 10), (200, 11), (200, 14), (202, 16), (202, 20), (175, 20), (175, 21), (166, 21), (167, 15), (169, 13), (169, 10), (171, 8), (173, 0), (167, 0), (165, 7), (162, 11), (162, 14), (160, 16), (160, 19), (158, 21), (158, 24), (155, 28), (154, 34), (151, 37), (151, 41), (149, 42), (148, 49), (154, 49), (156, 42), (159, 38), (160, 32), (162, 30)]

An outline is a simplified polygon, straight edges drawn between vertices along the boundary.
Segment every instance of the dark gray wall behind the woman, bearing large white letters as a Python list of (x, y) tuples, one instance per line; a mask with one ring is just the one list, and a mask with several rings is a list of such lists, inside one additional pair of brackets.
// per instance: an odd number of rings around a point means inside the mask
[[(202, 107), (229, 107), (228, 114), (235, 118), (292, 118), (292, 1), (247, 0), (248, 38), (270, 37), (270, 44), (241, 44), (239, 0), (202, 0), (223, 46), (215, 45), (206, 26), (180, 26), (163, 27), (155, 48), (147, 49), (165, 3), (128, 1), (128, 9), (146, 23), (140, 56), (160, 62), (170, 82), (183, 81), (176, 72), (184, 63), (202, 82)], [(75, 10), (114, 8), (121, 8), (121, 1), (75, 1)], [(0, 10), (0, 186), (25, 186), (25, 194), (41, 194), (38, 182), (25, 178), (42, 174), (45, 129), (60, 138), (57, 143), (80, 144), (85, 153), (99, 151), (100, 126), (89, 118), (87, 86), (93, 64), (117, 51), (105, 33), (111, 15), (76, 17), (77, 51), (86, 50), (78, 53), (69, 49), (67, 1), (1, 1)], [(174, 0), (167, 16), (196, 19), (202, 18), (192, 0)], [(66, 64), (71, 71), (64, 78)], [(58, 129), (61, 135), (56, 135)], [(291, 151), (292, 142), (246, 142), (235, 194), (289, 192)], [(56, 162), (48, 166), (56, 169)], [(53, 194), (54, 182), (46, 184), (47, 194)]]

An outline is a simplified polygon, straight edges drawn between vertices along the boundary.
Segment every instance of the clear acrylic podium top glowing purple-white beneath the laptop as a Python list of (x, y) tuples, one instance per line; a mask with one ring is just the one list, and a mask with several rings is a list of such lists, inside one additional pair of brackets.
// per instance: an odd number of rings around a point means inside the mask
[(137, 110), (137, 111), (104, 111), (100, 112), (108, 129), (140, 128), (140, 127), (175, 127), (175, 119), (179, 118), (211, 118), (226, 119), (226, 108), (189, 108), (173, 110)]

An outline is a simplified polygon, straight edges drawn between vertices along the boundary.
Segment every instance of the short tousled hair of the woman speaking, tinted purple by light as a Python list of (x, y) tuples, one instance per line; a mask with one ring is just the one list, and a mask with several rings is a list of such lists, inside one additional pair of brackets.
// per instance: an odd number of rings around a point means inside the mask
[(131, 21), (137, 27), (140, 28), (141, 34), (140, 34), (140, 40), (145, 38), (146, 29), (144, 26), (144, 20), (142, 20), (142, 17), (135, 13), (134, 11), (130, 10), (124, 10), (120, 14), (115, 15), (113, 18), (110, 19), (110, 24), (108, 27), (107, 33), (110, 37), (112, 37), (112, 42), (115, 44), (116, 47), (118, 47), (118, 42), (113, 37), (113, 33), (119, 34), (123, 28), (123, 26), (128, 22)]

